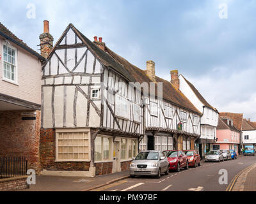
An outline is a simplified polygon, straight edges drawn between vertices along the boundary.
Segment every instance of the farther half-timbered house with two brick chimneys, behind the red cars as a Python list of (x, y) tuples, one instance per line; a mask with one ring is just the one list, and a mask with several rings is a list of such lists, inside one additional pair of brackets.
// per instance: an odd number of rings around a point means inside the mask
[[(147, 69), (140, 69), (108, 47), (104, 50), (140, 84), (143, 89), (143, 115), (145, 136), (140, 140), (140, 150), (194, 149), (195, 140), (200, 136), (200, 115), (188, 98), (179, 89), (177, 70), (171, 71), (168, 82), (156, 76), (155, 62), (147, 61)], [(143, 88), (145, 88), (143, 86)]]

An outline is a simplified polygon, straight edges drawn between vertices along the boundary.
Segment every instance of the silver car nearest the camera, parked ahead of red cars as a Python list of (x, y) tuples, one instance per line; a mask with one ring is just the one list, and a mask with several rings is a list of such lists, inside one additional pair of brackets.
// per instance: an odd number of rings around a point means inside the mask
[(166, 154), (161, 151), (148, 150), (140, 152), (130, 164), (131, 177), (135, 175), (152, 175), (160, 178), (161, 173), (166, 175), (169, 173), (168, 159)]

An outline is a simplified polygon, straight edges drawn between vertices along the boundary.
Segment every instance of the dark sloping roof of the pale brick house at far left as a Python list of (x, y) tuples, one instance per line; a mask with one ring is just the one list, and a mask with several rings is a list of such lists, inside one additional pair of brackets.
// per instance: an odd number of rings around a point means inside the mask
[(22, 40), (20, 40), (15, 34), (13, 34), (9, 29), (7, 29), (3, 24), (0, 22), (0, 35), (6, 38), (9, 41), (12, 41), (16, 45), (19, 45), (20, 47), (24, 48), (24, 50), (28, 51), (29, 53), (35, 55), (38, 57), (38, 59), (44, 61), (44, 57), (42, 55), (38, 54), (35, 50), (28, 47), (26, 43), (24, 43)]

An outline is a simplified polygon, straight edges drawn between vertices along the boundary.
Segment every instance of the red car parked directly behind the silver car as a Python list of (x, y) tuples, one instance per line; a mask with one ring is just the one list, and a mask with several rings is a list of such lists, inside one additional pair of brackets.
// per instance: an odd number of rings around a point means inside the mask
[(182, 150), (166, 150), (164, 151), (168, 157), (168, 162), (170, 164), (169, 170), (180, 171), (180, 168), (185, 168), (188, 170), (188, 157)]

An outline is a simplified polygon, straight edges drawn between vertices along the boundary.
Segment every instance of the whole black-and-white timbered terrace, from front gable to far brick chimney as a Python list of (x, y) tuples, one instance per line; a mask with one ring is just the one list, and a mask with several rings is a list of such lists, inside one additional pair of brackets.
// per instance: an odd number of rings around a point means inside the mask
[(171, 82), (163, 80), (153, 61), (146, 70), (137, 68), (72, 24), (48, 50), (45, 22), (40, 40), (48, 55), (42, 67), (43, 174), (113, 173), (129, 168), (139, 150), (194, 149), (202, 113), (179, 90), (175, 71)]

